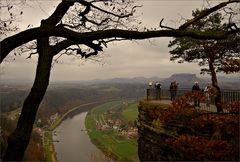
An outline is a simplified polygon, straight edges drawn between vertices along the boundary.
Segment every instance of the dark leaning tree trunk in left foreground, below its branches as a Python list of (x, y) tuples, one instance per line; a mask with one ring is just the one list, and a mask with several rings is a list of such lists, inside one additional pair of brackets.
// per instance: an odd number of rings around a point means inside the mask
[(48, 38), (38, 40), (38, 64), (33, 87), (24, 101), (17, 127), (8, 137), (4, 161), (21, 161), (29, 144), (38, 107), (49, 84), (53, 55)]

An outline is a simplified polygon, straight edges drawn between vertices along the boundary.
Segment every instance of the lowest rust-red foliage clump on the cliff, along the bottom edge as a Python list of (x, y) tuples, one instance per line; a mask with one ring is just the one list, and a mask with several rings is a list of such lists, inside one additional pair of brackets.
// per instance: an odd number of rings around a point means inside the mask
[(166, 143), (173, 146), (178, 160), (236, 160), (233, 146), (223, 140), (181, 135), (167, 140)]

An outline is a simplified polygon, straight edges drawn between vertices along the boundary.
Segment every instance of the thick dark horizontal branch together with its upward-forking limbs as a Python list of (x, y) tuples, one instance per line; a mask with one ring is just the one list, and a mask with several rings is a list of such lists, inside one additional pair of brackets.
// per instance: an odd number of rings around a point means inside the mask
[[(86, 5), (86, 4), (89, 5), (89, 2), (86, 2), (86, 1), (63, 0), (58, 5), (54, 13), (48, 19), (43, 20), (43, 24), (48, 24), (48, 25), (44, 25), (38, 28), (27, 29), (23, 32), (15, 34), (14, 36), (8, 37), (3, 41), (1, 41), (0, 42), (0, 45), (1, 45), (0, 63), (8, 55), (8, 53), (12, 51), (14, 48), (24, 43), (27, 43), (31, 40), (46, 37), (46, 36), (63, 37), (70, 41), (75, 42), (75, 44), (82, 44), (85, 42), (92, 42), (93, 40), (100, 40), (100, 39), (103, 40), (103, 39), (109, 39), (109, 38), (123, 38), (123, 39), (132, 40), (132, 39), (148, 39), (148, 38), (154, 38), (154, 37), (189, 36), (196, 39), (224, 39), (229, 34), (239, 32), (239, 28), (236, 28), (236, 26), (231, 26), (230, 31), (214, 31), (211, 33), (206, 31), (202, 32), (202, 31), (193, 31), (193, 30), (183, 30), (183, 29), (186, 29), (192, 23), (196, 22), (197, 20), (209, 15), (210, 13), (226, 6), (227, 4), (236, 3), (236, 2), (238, 3), (239, 0), (223, 2), (223, 3), (220, 3), (219, 5), (216, 5), (215, 7), (206, 9), (198, 17), (180, 26), (180, 30), (176, 29), (176, 30), (156, 30), (156, 31), (139, 32), (139, 31), (129, 31), (129, 30), (120, 30), (120, 29), (108, 29), (105, 31), (91, 31), (91, 32), (83, 32), (83, 33), (64, 28), (61, 24), (56, 26), (56, 24), (60, 22), (64, 14), (68, 11), (69, 7), (74, 4), (74, 2), (79, 2), (80, 4), (83, 4), (83, 5)], [(102, 12), (108, 13), (110, 15), (121, 17), (121, 15), (117, 15), (117, 14), (105, 11), (95, 5), (91, 4), (91, 7), (93, 8), (95, 7), (96, 9)], [(135, 7), (138, 7), (138, 6), (135, 6)], [(134, 7), (132, 8), (132, 12), (133, 10), (134, 10)], [(126, 15), (129, 16), (131, 14), (126, 14)]]

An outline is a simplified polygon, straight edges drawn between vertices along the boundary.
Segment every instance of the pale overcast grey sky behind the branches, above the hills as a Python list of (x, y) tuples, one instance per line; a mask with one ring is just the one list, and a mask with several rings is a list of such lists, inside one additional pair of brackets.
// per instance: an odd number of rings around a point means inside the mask
[[(40, 21), (47, 18), (59, 1), (33, 1), (24, 9), (23, 18), (19, 26), (24, 29), (28, 24), (39, 26)], [(214, 0), (212, 3), (219, 1)], [(202, 8), (203, 0), (142, 0), (143, 5), (138, 9), (139, 19), (147, 27), (158, 27), (164, 18), (164, 24), (175, 27), (181, 17), (190, 18), (195, 8)], [(104, 50), (103, 61), (82, 61), (70, 57), (63, 57), (55, 64), (51, 71), (51, 81), (56, 80), (89, 80), (114, 77), (168, 77), (173, 73), (199, 74), (197, 64), (178, 64), (170, 62), (170, 38), (158, 38), (145, 41), (124, 41), (109, 45)], [(35, 76), (36, 58), (25, 59), (27, 55), (14, 57), (14, 61), (1, 65), (2, 79), (31, 79)], [(12, 60), (11, 55), (7, 60)]]

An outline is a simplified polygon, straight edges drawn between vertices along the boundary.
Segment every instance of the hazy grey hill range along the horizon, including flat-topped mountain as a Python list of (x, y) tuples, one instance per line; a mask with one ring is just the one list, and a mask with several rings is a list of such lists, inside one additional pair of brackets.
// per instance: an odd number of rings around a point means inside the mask
[[(91, 84), (144, 84), (147, 85), (149, 81), (160, 81), (163, 88), (169, 88), (169, 85), (172, 81), (177, 81), (179, 83), (179, 88), (191, 88), (195, 81), (198, 81), (201, 88), (204, 88), (207, 83), (211, 82), (210, 76), (197, 77), (196, 74), (191, 73), (177, 73), (173, 74), (168, 78), (163, 78), (161, 76), (155, 77), (133, 77), (133, 78), (111, 78), (111, 79), (95, 79), (95, 80), (79, 80), (79, 81), (54, 81), (50, 83), (50, 88), (57, 88), (61, 86), (68, 87), (78, 87), (78, 84), (82, 84), (80, 87), (84, 88), (83, 85)], [(228, 77), (228, 76), (218, 76), (218, 82), (222, 89), (240, 89), (240, 77)], [(31, 83), (31, 84), (30, 84)], [(24, 89), (30, 89), (32, 82), (26, 80), (0, 80), (0, 86), (5, 85), (16, 85), (19, 88), (19, 85), (24, 87)], [(1, 88), (1, 87), (0, 87)]]

